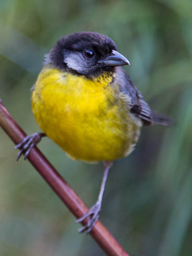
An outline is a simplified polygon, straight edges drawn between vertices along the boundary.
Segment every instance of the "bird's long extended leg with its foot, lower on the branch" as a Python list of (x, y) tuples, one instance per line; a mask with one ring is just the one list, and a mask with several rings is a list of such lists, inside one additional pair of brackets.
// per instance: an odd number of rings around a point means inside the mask
[(81, 217), (80, 219), (78, 219), (76, 221), (76, 223), (79, 223), (79, 222), (83, 221), (85, 218), (90, 216), (86, 226), (84, 226), (83, 228), (80, 228), (78, 230), (79, 233), (83, 233), (86, 230), (87, 230), (87, 233), (89, 233), (91, 231), (91, 229), (94, 227), (97, 220), (99, 219), (99, 213), (100, 213), (100, 210), (101, 210), (101, 202), (102, 202), (103, 193), (104, 193), (104, 190), (105, 190), (105, 184), (106, 184), (106, 180), (107, 180), (108, 170), (112, 165), (113, 165), (112, 162), (104, 162), (104, 173), (103, 173), (103, 178), (102, 178), (102, 182), (101, 182), (101, 187), (100, 187), (98, 200), (97, 200), (96, 204), (94, 204), (91, 207), (89, 212), (84, 214), (83, 217)]

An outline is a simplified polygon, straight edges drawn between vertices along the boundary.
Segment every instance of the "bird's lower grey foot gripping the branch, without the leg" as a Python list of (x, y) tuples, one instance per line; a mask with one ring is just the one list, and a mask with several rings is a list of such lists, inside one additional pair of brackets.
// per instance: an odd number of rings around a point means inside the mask
[(99, 219), (99, 213), (101, 210), (101, 203), (100, 202), (96, 202), (96, 204), (94, 204), (91, 209), (89, 210), (89, 212), (87, 212), (86, 214), (84, 214), (83, 217), (79, 218), (76, 223), (79, 223), (81, 221), (83, 221), (84, 219), (86, 219), (87, 217), (90, 216), (86, 226), (84, 226), (83, 228), (79, 228), (78, 231), (79, 233), (83, 233), (85, 231), (87, 231), (87, 233), (89, 233), (92, 228), (95, 226), (95, 223), (97, 222), (97, 220)]

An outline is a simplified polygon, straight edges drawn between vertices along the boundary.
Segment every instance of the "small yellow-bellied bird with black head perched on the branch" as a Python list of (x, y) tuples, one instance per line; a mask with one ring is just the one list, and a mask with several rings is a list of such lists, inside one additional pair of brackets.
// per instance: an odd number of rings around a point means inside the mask
[(32, 111), (43, 132), (27, 136), (17, 160), (48, 136), (74, 160), (104, 163), (96, 204), (80, 232), (90, 232), (99, 218), (108, 170), (134, 149), (143, 125), (169, 126), (166, 116), (151, 111), (121, 67), (129, 61), (108, 36), (79, 32), (62, 37), (45, 55), (32, 87)]

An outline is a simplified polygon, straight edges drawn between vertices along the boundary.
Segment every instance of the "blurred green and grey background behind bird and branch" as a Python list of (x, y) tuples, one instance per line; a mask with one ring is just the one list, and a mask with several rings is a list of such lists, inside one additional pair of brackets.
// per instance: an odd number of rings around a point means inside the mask
[[(0, 1), (0, 98), (28, 133), (40, 131), (30, 88), (44, 54), (78, 31), (111, 37), (151, 108), (176, 125), (144, 127), (135, 151), (109, 172), (100, 220), (130, 255), (192, 255), (192, 2)], [(105, 255), (0, 129), (0, 255)], [(69, 159), (48, 138), (39, 148), (88, 206), (102, 165)]]

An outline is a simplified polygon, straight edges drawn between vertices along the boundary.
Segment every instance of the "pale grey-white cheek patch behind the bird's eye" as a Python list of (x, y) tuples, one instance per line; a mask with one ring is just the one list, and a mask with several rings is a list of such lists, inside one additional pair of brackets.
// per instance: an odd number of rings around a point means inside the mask
[(72, 68), (79, 73), (84, 73), (87, 68), (86, 61), (80, 52), (68, 53), (67, 57), (64, 55), (63, 61), (67, 64), (68, 68)]

